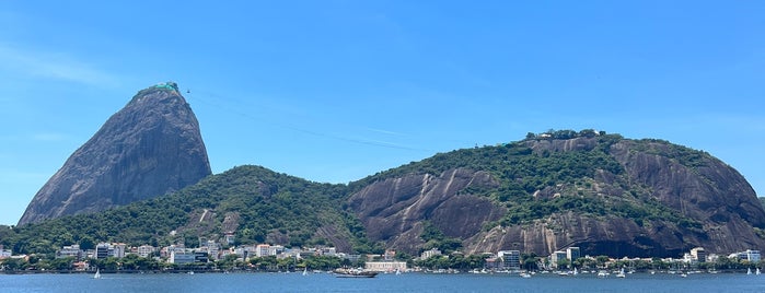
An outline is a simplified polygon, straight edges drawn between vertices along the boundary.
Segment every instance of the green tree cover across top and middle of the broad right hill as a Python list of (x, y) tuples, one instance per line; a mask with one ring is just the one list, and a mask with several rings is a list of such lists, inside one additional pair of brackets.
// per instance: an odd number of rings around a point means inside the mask
[[(545, 138), (530, 134), (525, 140), (518, 142), (440, 153), (370, 176), (351, 184), (351, 188), (359, 189), (376, 180), (409, 173), (440, 174), (461, 167), (489, 172), (499, 180), (499, 188), (468, 188), (463, 192), (485, 196), (491, 198), (497, 204), (506, 207), (508, 213), (499, 221), (499, 224), (506, 226), (529, 223), (567, 210), (596, 216), (624, 216), (639, 223), (651, 219), (664, 219), (686, 225), (700, 225), (698, 221), (683, 216), (656, 201), (647, 200), (647, 194), (650, 190), (629, 185), (628, 179), (623, 176), (624, 167), (610, 154), (611, 145), (623, 140), (621, 136), (595, 134), (594, 131), (587, 130), (550, 131), (544, 134)], [(571, 151), (553, 151), (544, 148), (537, 148), (538, 150), (534, 151), (532, 149), (538, 144), (538, 141), (587, 137), (596, 141), (593, 148)], [(650, 149), (646, 146), (649, 142), (657, 141), (636, 141), (637, 145), (645, 150)], [(667, 145), (670, 144), (667, 143)], [(677, 161), (691, 162), (698, 160), (698, 155), (709, 157), (708, 154), (682, 146), (672, 145), (672, 148), (679, 150), (673, 154), (673, 159)], [(624, 197), (599, 196), (599, 190), (594, 188), (599, 172), (614, 175), (614, 181), (610, 184), (624, 189)], [(545, 190), (547, 190), (546, 194), (563, 196), (546, 200), (534, 197), (537, 191)]]

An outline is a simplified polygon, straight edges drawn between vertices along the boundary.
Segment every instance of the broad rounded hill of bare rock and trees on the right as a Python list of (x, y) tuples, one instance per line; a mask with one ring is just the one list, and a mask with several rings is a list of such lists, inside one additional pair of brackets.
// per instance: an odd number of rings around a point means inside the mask
[(375, 175), (348, 206), (372, 241), (410, 254), (424, 248), (426, 222), (461, 239), (467, 254), (765, 248), (765, 211), (735, 169), (665, 141), (616, 138), (537, 137), (439, 154)]

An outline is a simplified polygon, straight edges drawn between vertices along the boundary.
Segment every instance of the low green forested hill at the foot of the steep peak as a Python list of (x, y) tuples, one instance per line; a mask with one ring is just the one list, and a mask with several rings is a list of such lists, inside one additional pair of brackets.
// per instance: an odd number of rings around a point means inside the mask
[(235, 244), (327, 244), (357, 250), (373, 247), (363, 227), (341, 207), (345, 185), (317, 184), (258, 166), (241, 166), (210, 176), (178, 192), (101, 213), (67, 216), (5, 231), (0, 241), (16, 253), (51, 253), (62, 245), (123, 242), (154, 246), (198, 237)]

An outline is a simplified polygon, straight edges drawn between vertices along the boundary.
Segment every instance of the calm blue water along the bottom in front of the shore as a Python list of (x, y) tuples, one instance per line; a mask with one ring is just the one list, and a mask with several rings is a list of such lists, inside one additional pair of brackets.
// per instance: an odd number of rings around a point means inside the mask
[(327, 273), (0, 274), (0, 292), (765, 292), (765, 276), (629, 274), (380, 274), (341, 279)]

